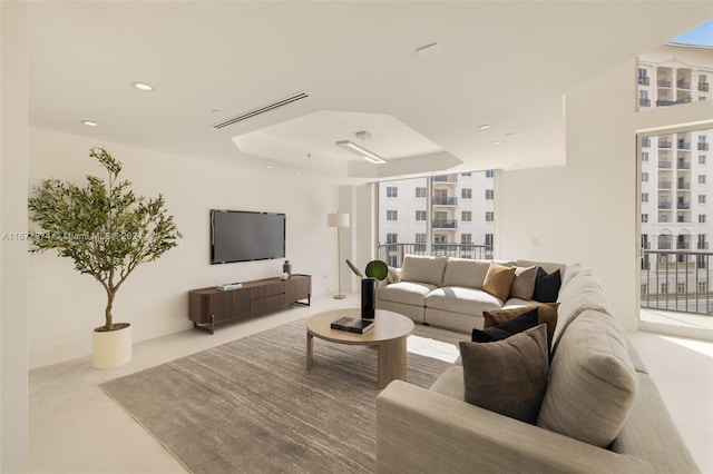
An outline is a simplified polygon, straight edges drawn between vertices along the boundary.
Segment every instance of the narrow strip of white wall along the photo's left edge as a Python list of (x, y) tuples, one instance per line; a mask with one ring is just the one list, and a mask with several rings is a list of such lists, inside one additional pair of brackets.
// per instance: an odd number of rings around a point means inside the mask
[[(0, 224), (21, 231), (27, 220), (27, 4), (0, 4)], [(0, 241), (0, 472), (27, 472), (27, 243)]]

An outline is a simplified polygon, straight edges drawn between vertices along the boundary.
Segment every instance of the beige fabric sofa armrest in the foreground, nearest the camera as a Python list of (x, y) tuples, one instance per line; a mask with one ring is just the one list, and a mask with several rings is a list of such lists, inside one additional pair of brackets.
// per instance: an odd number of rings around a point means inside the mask
[(378, 473), (642, 472), (651, 466), (394, 381), (377, 397)]

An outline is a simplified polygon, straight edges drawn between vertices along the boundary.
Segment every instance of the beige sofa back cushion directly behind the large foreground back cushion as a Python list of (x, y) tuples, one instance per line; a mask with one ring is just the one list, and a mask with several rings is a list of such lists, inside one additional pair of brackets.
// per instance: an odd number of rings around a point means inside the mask
[(582, 270), (563, 288), (557, 300), (557, 327), (553, 336), (553, 352), (557, 349), (557, 344), (567, 326), (584, 310), (595, 309), (600, 313), (614, 315), (614, 309), (607, 302), (604, 288), (599, 280), (589, 269)]

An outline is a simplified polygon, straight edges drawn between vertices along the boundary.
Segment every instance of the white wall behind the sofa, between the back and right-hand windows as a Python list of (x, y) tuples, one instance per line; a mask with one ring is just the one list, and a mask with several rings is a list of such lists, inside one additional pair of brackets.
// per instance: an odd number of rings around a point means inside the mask
[(592, 268), (627, 330), (638, 307), (636, 132), (705, 120), (713, 103), (636, 112), (636, 63), (570, 91), (567, 165), (504, 172), (499, 254)]

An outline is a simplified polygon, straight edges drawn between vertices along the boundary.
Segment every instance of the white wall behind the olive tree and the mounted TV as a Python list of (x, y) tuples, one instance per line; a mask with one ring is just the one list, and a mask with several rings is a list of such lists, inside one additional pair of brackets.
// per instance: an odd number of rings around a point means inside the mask
[[(282, 259), (209, 265), (211, 208), (285, 213), (286, 258), (293, 271), (313, 276), (313, 295), (336, 289), (336, 241), (325, 221), (334, 211), (336, 186), (307, 175), (247, 170), (30, 129), (30, 187), (46, 178), (82, 185), (85, 175), (104, 177), (88, 156), (94, 146), (105, 146), (124, 164), (121, 175), (134, 182), (136, 192), (164, 194), (184, 235), (178, 248), (140, 265), (117, 294), (115, 322), (133, 324), (135, 343), (192, 327), (189, 289), (270, 277), (282, 268)], [(90, 354), (91, 329), (104, 322), (106, 299), (99, 284), (51, 253), (30, 255), (29, 274), (30, 367)]]

